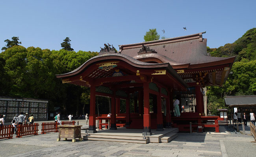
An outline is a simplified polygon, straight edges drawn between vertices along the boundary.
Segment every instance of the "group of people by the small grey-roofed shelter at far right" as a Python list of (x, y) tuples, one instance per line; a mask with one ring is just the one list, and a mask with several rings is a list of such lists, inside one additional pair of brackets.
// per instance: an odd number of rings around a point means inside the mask
[[(255, 114), (252, 112), (252, 110), (250, 110), (250, 121), (252, 122), (252, 124), (255, 125)], [(234, 123), (239, 123), (239, 126), (241, 126), (242, 124), (242, 119), (243, 119), (243, 122), (245, 124), (245, 126), (247, 126), (247, 116), (245, 114), (245, 112), (243, 113), (243, 115), (241, 116), (241, 113), (240, 111), (238, 110), (238, 112), (235, 112), (234, 114)], [(236, 125), (236, 124), (235, 124)]]

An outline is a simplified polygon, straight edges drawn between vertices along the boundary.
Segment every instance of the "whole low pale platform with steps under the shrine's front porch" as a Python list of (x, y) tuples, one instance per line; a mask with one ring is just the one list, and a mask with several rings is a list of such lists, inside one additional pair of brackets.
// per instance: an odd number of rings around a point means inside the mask
[(145, 136), (143, 139), (143, 129), (126, 129), (125, 127), (117, 128), (117, 130), (99, 130), (97, 133), (81, 133), (84, 140), (93, 141), (115, 141), (115, 142), (130, 142), (130, 143), (160, 143), (170, 142), (178, 136), (178, 128), (165, 128), (164, 131), (151, 130), (151, 136)]

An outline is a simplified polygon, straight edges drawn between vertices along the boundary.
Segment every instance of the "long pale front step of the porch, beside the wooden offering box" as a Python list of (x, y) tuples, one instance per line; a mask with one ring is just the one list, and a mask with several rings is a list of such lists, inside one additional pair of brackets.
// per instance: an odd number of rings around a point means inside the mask
[(90, 135), (90, 136), (83, 136), (83, 139), (93, 140), (93, 141), (129, 142), (129, 143), (141, 143), (141, 144), (148, 143), (148, 138), (143, 139), (143, 137), (129, 137), (129, 136)]

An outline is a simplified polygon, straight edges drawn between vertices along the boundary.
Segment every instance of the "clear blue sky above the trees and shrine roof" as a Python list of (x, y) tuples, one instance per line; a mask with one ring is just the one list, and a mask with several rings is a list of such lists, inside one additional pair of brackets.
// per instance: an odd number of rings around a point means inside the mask
[(104, 43), (118, 49), (143, 42), (152, 28), (168, 38), (206, 31), (214, 48), (256, 27), (255, 7), (256, 0), (2, 0), (0, 49), (11, 37), (50, 50), (66, 37), (74, 51), (100, 51)]

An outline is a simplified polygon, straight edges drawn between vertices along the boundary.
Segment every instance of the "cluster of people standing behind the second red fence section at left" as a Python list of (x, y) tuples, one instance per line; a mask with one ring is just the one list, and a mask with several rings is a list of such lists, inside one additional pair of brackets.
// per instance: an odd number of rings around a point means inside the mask
[(15, 134), (17, 131), (17, 126), (22, 124), (28, 124), (28, 122), (30, 122), (30, 124), (34, 123), (33, 114), (31, 114), (30, 117), (28, 117), (28, 113), (26, 113), (25, 115), (23, 114), (24, 114), (23, 112), (20, 112), (20, 115), (16, 114), (15, 117), (13, 117), (13, 120), (11, 121), (12, 125), (14, 126), (13, 133)]

